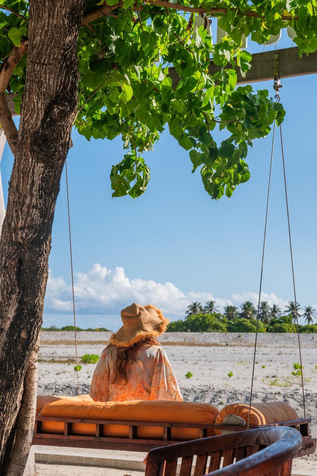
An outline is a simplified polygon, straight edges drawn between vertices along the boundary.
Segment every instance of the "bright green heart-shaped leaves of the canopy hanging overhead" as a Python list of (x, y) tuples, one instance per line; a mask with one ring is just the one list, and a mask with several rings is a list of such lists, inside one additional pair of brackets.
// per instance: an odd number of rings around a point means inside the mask
[[(267, 90), (254, 92), (249, 85), (236, 89), (232, 67), (238, 65), (245, 75), (252, 64), (251, 54), (240, 48), (242, 35), (262, 44), (290, 25), (299, 54), (317, 49), (316, 0), (179, 1), (184, 10), (196, 7), (217, 17), (230, 36), (212, 44), (206, 17), (197, 28), (200, 13), (190, 16), (168, 2), (87, 1), (78, 41), (75, 126), (88, 140), (121, 136), (126, 153), (111, 169), (113, 197), (144, 193), (150, 172), (142, 153), (153, 149), (164, 129), (188, 150), (192, 170), (200, 169), (208, 194), (215, 199), (223, 194), (231, 197), (250, 177), (246, 157), (253, 139), (265, 137), (273, 121), (280, 123), (285, 114)], [(3, 6), (23, 18), (0, 11), (2, 63), (14, 46), (27, 39), (29, 2), (6, 0)], [(99, 16), (87, 16), (97, 10)], [(210, 58), (219, 68), (214, 75), (208, 74)], [(9, 91), (18, 93), (17, 111), (26, 64), (24, 56), (8, 85)], [(180, 77), (175, 89), (168, 77), (170, 66)], [(220, 144), (213, 138), (215, 127), (227, 132)]]

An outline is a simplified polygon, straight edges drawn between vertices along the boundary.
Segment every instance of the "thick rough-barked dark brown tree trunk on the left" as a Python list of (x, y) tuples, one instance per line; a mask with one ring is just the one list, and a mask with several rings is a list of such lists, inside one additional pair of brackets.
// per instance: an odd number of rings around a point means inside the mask
[[(26, 85), (0, 239), (0, 476), (10, 462), (23, 380), (42, 323), (51, 228), (78, 102), (76, 47), (85, 4), (30, 0)], [(32, 427), (32, 402), (27, 407)]]

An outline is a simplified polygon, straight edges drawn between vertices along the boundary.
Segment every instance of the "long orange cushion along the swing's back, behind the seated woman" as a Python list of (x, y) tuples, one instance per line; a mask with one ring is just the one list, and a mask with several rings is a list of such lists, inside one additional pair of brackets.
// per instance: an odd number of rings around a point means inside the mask
[[(125, 420), (155, 423), (215, 423), (218, 409), (209, 403), (177, 402), (166, 400), (129, 400), (126, 402), (94, 402), (90, 397), (63, 397), (46, 403), (40, 412), (41, 417), (69, 417), (104, 420)], [(79, 400), (79, 398), (82, 398)], [(63, 434), (64, 424), (42, 422), (42, 431)], [(72, 432), (78, 435), (95, 435), (96, 426), (91, 423), (74, 423)], [(104, 425), (105, 436), (129, 436), (127, 425)], [(214, 435), (213, 430), (208, 436)], [(198, 428), (172, 428), (174, 440), (195, 439), (199, 437)], [(160, 426), (138, 426), (139, 438), (163, 438)]]

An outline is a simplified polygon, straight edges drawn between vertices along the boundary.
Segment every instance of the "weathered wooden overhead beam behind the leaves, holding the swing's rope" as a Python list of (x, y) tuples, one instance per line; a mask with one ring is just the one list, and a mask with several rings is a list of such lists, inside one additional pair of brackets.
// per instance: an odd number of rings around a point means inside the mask
[[(273, 80), (274, 78), (274, 56), (279, 55), (279, 75), (280, 79), (293, 76), (303, 76), (305, 74), (317, 73), (317, 51), (308, 56), (303, 54), (298, 56), (297, 48), (283, 48), (282, 50), (265, 51), (252, 55), (251, 69), (246, 78), (242, 78), (240, 68), (236, 67), (238, 74), (237, 84), (256, 83), (258, 81)], [(208, 67), (209, 74), (217, 73), (219, 67), (210, 61)], [(168, 76), (172, 80), (173, 88), (176, 87), (179, 76), (175, 68), (169, 68)]]

